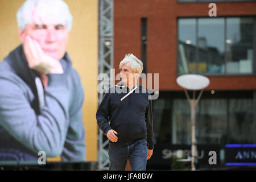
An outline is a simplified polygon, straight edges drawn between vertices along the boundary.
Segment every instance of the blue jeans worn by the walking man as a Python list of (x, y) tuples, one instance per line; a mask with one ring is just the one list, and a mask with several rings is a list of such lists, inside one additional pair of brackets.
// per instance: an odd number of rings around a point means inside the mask
[(129, 159), (131, 170), (145, 171), (147, 166), (147, 141), (143, 139), (126, 144), (109, 142), (110, 171), (125, 170), (127, 159)]

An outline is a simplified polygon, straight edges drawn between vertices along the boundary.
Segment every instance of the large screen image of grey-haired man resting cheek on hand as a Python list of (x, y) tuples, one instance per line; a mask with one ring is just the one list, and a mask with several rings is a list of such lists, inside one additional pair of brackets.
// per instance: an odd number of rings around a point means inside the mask
[(62, 0), (27, 0), (20, 46), (0, 63), (0, 160), (85, 161), (84, 90), (65, 48), (72, 15)]

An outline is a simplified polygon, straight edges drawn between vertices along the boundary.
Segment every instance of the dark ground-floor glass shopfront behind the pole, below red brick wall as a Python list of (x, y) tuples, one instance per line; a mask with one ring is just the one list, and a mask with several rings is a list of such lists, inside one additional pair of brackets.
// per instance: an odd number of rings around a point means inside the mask
[[(161, 92), (158, 100), (153, 100), (156, 143), (191, 143), (191, 109), (184, 95)], [(255, 91), (205, 91), (196, 107), (197, 144), (255, 143), (255, 105)]]

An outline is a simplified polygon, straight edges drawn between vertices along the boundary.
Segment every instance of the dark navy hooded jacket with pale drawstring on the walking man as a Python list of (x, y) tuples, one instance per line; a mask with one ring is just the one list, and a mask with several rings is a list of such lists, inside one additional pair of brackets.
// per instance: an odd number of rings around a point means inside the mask
[(118, 137), (116, 144), (147, 139), (148, 149), (153, 149), (150, 93), (137, 84), (137, 89), (121, 101), (131, 90), (122, 81), (108, 89), (96, 113), (98, 126), (105, 134), (111, 129), (115, 130)]

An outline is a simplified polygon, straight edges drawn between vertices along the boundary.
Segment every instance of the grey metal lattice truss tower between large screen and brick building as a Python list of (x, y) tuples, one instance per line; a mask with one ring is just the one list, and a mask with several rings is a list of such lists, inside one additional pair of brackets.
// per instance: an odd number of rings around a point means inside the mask
[[(113, 79), (113, 0), (98, 0), (99, 35), (98, 35), (98, 74), (106, 73), (109, 85), (114, 84)], [(98, 81), (100, 82), (100, 81)], [(104, 93), (98, 94), (98, 105)], [(109, 169), (108, 139), (98, 130), (98, 169)]]

